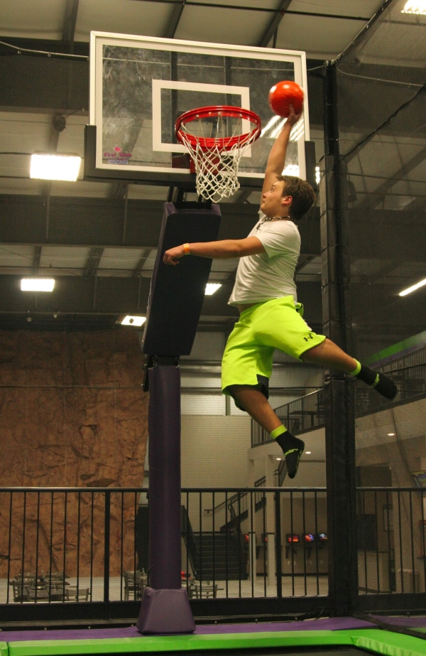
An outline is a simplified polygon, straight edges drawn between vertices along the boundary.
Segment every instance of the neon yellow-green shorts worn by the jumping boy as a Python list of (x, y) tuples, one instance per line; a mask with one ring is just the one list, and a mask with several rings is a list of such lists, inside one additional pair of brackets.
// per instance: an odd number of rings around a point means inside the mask
[(300, 360), (325, 339), (312, 333), (302, 316), (302, 303), (295, 303), (293, 296), (257, 303), (241, 312), (222, 359), (222, 392), (232, 396), (231, 385), (253, 385), (268, 398), (275, 348)]

